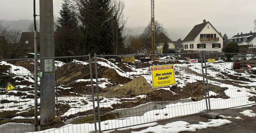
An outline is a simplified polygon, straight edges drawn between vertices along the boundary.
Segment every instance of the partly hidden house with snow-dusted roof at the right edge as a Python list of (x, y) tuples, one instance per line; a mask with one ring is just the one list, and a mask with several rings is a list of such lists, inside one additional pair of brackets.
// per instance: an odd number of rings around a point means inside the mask
[(237, 34), (230, 38), (230, 42), (236, 42), (240, 53), (256, 52), (256, 32)]

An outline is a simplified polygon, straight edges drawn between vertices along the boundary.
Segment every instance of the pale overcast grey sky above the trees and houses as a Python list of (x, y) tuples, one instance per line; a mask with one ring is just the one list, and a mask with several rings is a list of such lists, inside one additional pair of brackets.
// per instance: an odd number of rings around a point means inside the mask
[[(0, 0), (0, 19), (33, 19), (33, 0)], [(39, 0), (36, 0), (39, 3)], [(53, 0), (54, 16), (59, 16), (62, 0)], [(146, 26), (150, 21), (150, 0), (124, 0), (127, 26)], [(229, 37), (254, 32), (256, 0), (155, 0), (155, 20), (165, 28), (192, 29), (203, 19)], [(37, 6), (39, 8), (39, 6)], [(39, 10), (37, 10), (39, 14)], [(229, 30), (230, 29), (230, 30)], [(232, 32), (231, 32), (232, 31)]]

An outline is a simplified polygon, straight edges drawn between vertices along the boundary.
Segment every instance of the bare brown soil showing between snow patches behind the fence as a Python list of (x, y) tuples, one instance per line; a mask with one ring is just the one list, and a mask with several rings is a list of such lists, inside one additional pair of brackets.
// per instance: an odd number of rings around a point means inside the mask
[[(93, 61), (94, 59), (92, 59)], [(101, 62), (107, 62), (106, 60), (101, 60)], [(188, 64), (188, 62), (185, 62)], [(181, 64), (179, 61), (175, 62), (152, 62), (153, 65), (164, 65), (164, 64)], [(140, 64), (139, 66), (136, 66), (136, 68), (145, 68), (152, 66), (150, 63), (143, 63)], [(184, 63), (183, 63), (184, 64)], [(30, 71), (34, 71), (34, 66), (33, 64), (31, 65), (30, 62), (17, 62), (15, 65), (17, 66), (22, 66)], [(118, 66), (118, 67), (116, 67)], [(112, 67), (115, 67), (119, 71), (123, 72), (131, 72), (133, 71), (130, 66), (127, 64), (122, 64), (122, 63), (117, 63), (116, 66), (112, 65)], [(197, 81), (196, 83), (188, 83), (184, 87), (178, 87), (177, 85), (173, 85), (172, 87), (169, 87), (170, 91), (164, 90), (164, 89), (158, 89), (158, 88), (152, 88), (149, 83), (147, 83), (146, 79), (144, 77), (136, 77), (135, 79), (131, 79), (128, 77), (123, 77), (119, 75), (115, 69), (109, 68), (102, 66), (98, 64), (98, 78), (108, 78), (109, 84), (107, 85), (107, 88), (100, 88), (99, 87), (99, 93), (100, 96), (104, 97), (118, 97), (118, 98), (123, 98), (123, 97), (135, 97), (137, 95), (147, 95), (146, 99), (140, 99), (138, 98), (136, 101), (134, 100), (123, 100), (127, 102), (123, 102), (122, 104), (115, 104), (112, 105), (113, 109), (111, 108), (105, 108), (101, 109), (101, 114), (107, 113), (109, 111), (112, 111), (114, 109), (121, 109), (121, 108), (131, 108), (135, 107), (137, 105), (147, 103), (150, 101), (171, 101), (171, 100), (179, 100), (179, 99), (187, 99), (191, 97), (191, 100), (193, 101), (198, 101), (202, 100), (205, 97), (204, 94), (204, 84), (203, 81)], [(8, 69), (8, 66), (6, 66), (4, 69)], [(1, 72), (3, 70), (1, 69)], [(191, 71), (192, 73), (192, 71)], [(193, 72), (194, 73), (194, 72)], [(198, 73), (197, 73), (198, 74)], [(222, 80), (219, 81), (221, 83), (225, 84), (231, 84), (235, 86), (239, 86), (239, 81), (245, 81), (248, 79), (243, 79), (243, 78), (238, 78), (236, 76), (230, 75), (228, 73), (222, 72), (226, 77), (230, 79), (237, 80), (236, 82), (231, 82), (228, 80)], [(95, 78), (95, 65), (92, 64), (92, 75), (93, 78)], [(200, 75), (200, 74), (198, 74)], [(76, 82), (78, 79), (90, 79), (90, 66), (89, 64), (84, 65), (84, 64), (78, 64), (74, 62), (69, 62), (64, 64), (62, 67), (59, 67), (56, 69), (56, 77), (57, 77), (57, 84), (62, 85), (62, 87), (71, 87), (71, 89), (62, 89), (58, 88), (58, 96), (78, 96), (78, 95), (91, 95), (91, 87), (87, 86), (90, 85), (90, 81), (83, 81), (83, 82)], [(256, 77), (256, 76), (255, 76)], [(253, 78), (255, 78), (253, 77)], [(216, 80), (213, 77), (208, 77), (211, 80)], [(103, 82), (103, 81), (102, 81)], [(33, 84), (33, 83), (26, 83), (26, 84)], [(94, 84), (96, 84), (94, 82)], [(120, 85), (122, 84), (122, 85)], [(94, 87), (96, 88), (96, 87)], [(249, 88), (249, 87), (248, 87)], [(218, 87), (216, 85), (209, 84), (209, 90), (213, 91), (215, 93), (218, 93), (219, 95), (214, 96), (215, 98), (221, 97), (223, 99), (229, 98), (224, 91), (228, 88), (222, 88)], [(31, 93), (33, 93), (33, 89), (30, 88), (23, 88), (23, 89), (17, 89), (21, 91), (20, 93), (12, 93), (12, 92), (4, 92), (1, 91), (1, 95), (17, 95), (26, 98), (34, 98), (34, 95), (25, 95), (22, 93), (22, 91), (28, 91), (30, 90)], [(74, 93), (70, 93), (74, 92)], [(94, 92), (96, 92), (96, 89), (94, 89)], [(176, 95), (178, 94), (178, 95)], [(40, 92), (38, 93), (38, 97), (40, 97)], [(254, 97), (249, 97), (250, 101), (256, 101), (256, 98)], [(12, 102), (12, 101), (0, 101), (1, 103), (4, 102)], [(86, 104), (86, 103), (85, 103)], [(68, 109), (70, 109), (69, 105), (66, 104), (58, 104), (58, 108), (60, 109), (59, 115), (64, 114)], [(82, 115), (89, 115), (92, 114), (92, 111), (85, 111), (85, 112), (80, 112), (75, 115), (70, 115), (67, 119), (74, 118), (77, 116), (82, 116)], [(33, 115), (31, 112), (30, 115)], [(24, 115), (25, 117), (26, 115)], [(14, 116), (8, 116), (8, 118), (14, 117)], [(56, 122), (58, 123), (58, 122)], [(63, 123), (58, 123), (55, 125), (52, 125), (52, 127), (60, 127), (62, 126)], [(49, 127), (51, 128), (51, 127)]]

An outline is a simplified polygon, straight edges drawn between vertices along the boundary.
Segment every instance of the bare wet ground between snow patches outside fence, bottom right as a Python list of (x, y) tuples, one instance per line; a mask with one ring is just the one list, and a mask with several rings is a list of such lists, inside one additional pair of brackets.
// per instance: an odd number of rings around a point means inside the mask
[[(248, 117), (240, 114), (240, 112), (244, 110), (253, 110), (256, 111), (256, 105), (253, 107), (249, 108), (242, 108), (242, 109), (227, 109), (227, 110), (218, 110), (218, 111), (213, 111), (214, 113), (218, 113), (219, 115), (224, 115), (224, 116), (231, 116), (231, 117), (241, 117), (243, 120), (238, 120), (238, 119), (227, 119), (231, 121), (232, 123), (223, 125), (220, 127), (208, 127), (206, 129), (200, 129), (196, 130), (193, 133), (255, 133), (256, 131), (256, 117)], [(211, 119), (206, 116), (201, 116), (199, 114), (195, 115), (188, 115), (185, 117), (179, 117), (179, 118), (173, 118), (173, 119), (167, 119), (163, 121), (157, 121), (158, 125), (165, 125), (167, 123), (172, 123), (175, 121), (186, 121), (190, 124), (198, 124), (200, 121), (201, 122), (209, 122), (208, 119)], [(223, 119), (223, 118), (221, 118)], [(114, 131), (112, 133), (131, 133), (131, 131), (141, 131), (145, 128), (140, 128), (140, 129), (129, 129), (129, 130), (124, 130), (124, 131)], [(191, 133), (191, 132), (181, 132), (181, 133)]]

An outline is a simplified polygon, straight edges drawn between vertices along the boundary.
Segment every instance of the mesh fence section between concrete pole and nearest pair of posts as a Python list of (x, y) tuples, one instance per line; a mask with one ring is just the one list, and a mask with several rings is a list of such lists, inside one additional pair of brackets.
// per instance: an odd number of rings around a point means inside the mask
[(92, 97), (92, 84), (95, 79), (91, 82), (90, 56), (56, 58), (56, 63), (58, 117), (64, 123), (48, 132), (94, 131), (96, 101)]

